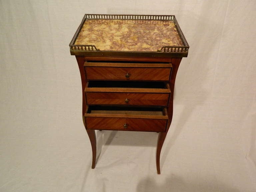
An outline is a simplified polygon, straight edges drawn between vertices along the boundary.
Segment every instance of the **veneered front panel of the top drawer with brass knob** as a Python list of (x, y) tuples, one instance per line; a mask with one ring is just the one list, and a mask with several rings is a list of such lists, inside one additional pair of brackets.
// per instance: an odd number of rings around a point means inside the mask
[(85, 67), (88, 80), (169, 81), (171, 68)]

